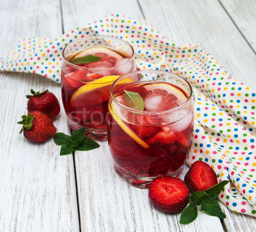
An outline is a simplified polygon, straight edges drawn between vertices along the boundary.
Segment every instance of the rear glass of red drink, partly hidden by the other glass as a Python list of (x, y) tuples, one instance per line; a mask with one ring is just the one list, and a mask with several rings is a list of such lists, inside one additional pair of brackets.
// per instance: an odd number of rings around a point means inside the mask
[(106, 113), (111, 84), (136, 70), (134, 49), (124, 40), (90, 36), (70, 42), (63, 50), (61, 93), (72, 130), (107, 140)]

